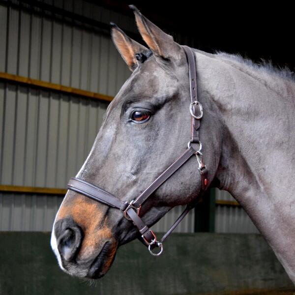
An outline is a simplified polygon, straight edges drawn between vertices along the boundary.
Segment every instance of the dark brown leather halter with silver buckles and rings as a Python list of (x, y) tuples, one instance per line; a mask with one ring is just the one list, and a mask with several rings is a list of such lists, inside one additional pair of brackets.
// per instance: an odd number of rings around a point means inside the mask
[[(163, 252), (163, 242), (164, 240), (173, 232), (177, 227), (178, 223), (184, 218), (184, 216), (194, 207), (194, 203), (190, 203), (186, 206), (185, 210), (177, 218), (172, 227), (168, 232), (160, 239), (157, 240), (155, 234), (148, 226), (143, 222), (140, 215), (140, 208), (142, 204), (148, 199), (148, 197), (161, 186), (169, 177), (171, 177), (191, 156), (195, 155), (198, 162), (198, 170), (201, 174), (202, 190), (205, 191), (207, 188), (207, 167), (203, 161), (202, 155), (202, 143), (199, 140), (199, 128), (200, 119), (203, 117), (203, 108), (197, 99), (197, 81), (196, 81), (196, 62), (195, 56), (192, 49), (188, 46), (182, 46), (189, 67), (189, 79), (190, 79), (190, 96), (191, 103), (189, 111), (191, 114), (191, 139), (188, 142), (187, 149), (185, 152), (170, 166), (168, 167), (158, 178), (156, 178), (148, 188), (137, 198), (130, 202), (122, 202), (119, 198), (113, 196), (107, 191), (95, 186), (80, 178), (71, 178), (67, 188), (87, 196), (95, 201), (106, 204), (110, 207), (120, 209), (123, 216), (131, 220), (133, 224), (139, 230), (143, 241), (148, 246), (148, 250), (152, 255), (158, 256)], [(198, 144), (199, 149), (196, 150), (192, 147), (192, 144)], [(153, 253), (152, 250), (155, 247), (159, 247), (160, 251), (158, 253)]]

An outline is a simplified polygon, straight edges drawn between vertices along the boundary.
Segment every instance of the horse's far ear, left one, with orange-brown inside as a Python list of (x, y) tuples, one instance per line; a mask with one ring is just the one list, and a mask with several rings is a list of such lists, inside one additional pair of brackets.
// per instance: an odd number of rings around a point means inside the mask
[(140, 62), (136, 59), (136, 55), (147, 51), (148, 48), (129, 38), (114, 23), (111, 23), (111, 26), (112, 40), (118, 49), (119, 54), (125, 60), (129, 69), (134, 71)]

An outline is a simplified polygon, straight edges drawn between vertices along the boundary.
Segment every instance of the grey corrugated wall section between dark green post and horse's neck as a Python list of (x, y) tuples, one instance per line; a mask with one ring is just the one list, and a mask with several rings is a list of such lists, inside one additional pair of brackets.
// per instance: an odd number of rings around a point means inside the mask
[[(216, 200), (236, 201), (230, 193), (216, 189)], [(217, 206), (215, 210), (216, 233), (258, 233), (250, 217), (241, 207)]]

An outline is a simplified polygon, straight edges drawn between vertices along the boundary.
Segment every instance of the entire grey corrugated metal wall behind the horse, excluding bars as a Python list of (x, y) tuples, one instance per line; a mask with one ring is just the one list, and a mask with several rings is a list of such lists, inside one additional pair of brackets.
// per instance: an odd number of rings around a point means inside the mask
[[(137, 32), (132, 14), (83, 0), (40, 2)], [(173, 35), (181, 44), (198, 47), (185, 34)], [(108, 31), (21, 1), (0, 3), (0, 40), (1, 72), (111, 96), (131, 73)], [(0, 82), (0, 184), (64, 188), (87, 157), (107, 105)], [(1, 193), (0, 230), (49, 231), (61, 201), (53, 195)], [(182, 209), (170, 211), (154, 230), (166, 231)], [(250, 232), (247, 218), (241, 208), (216, 207), (216, 231)], [(193, 210), (176, 231), (194, 231)]]

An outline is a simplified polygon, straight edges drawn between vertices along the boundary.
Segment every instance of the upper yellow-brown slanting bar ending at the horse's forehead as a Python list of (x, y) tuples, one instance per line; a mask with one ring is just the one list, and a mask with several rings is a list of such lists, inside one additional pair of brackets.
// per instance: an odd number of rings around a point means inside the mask
[(55, 91), (59, 91), (59, 92), (63, 92), (63, 93), (71, 94), (71, 95), (78, 95), (81, 97), (99, 99), (99, 100), (104, 100), (109, 102), (112, 101), (114, 98), (113, 96), (109, 96), (109, 95), (105, 95), (101, 93), (95, 93), (95, 92), (91, 92), (87, 90), (72, 88), (68, 86), (41, 81), (41, 80), (30, 79), (27, 77), (12, 75), (8, 73), (4, 73), (4, 72), (0, 72), (0, 80), (5, 80), (7, 82), (20, 83), (22, 85), (26, 85), (30, 87), (34, 86), (34, 87), (43, 88), (43, 89), (55, 90)]

